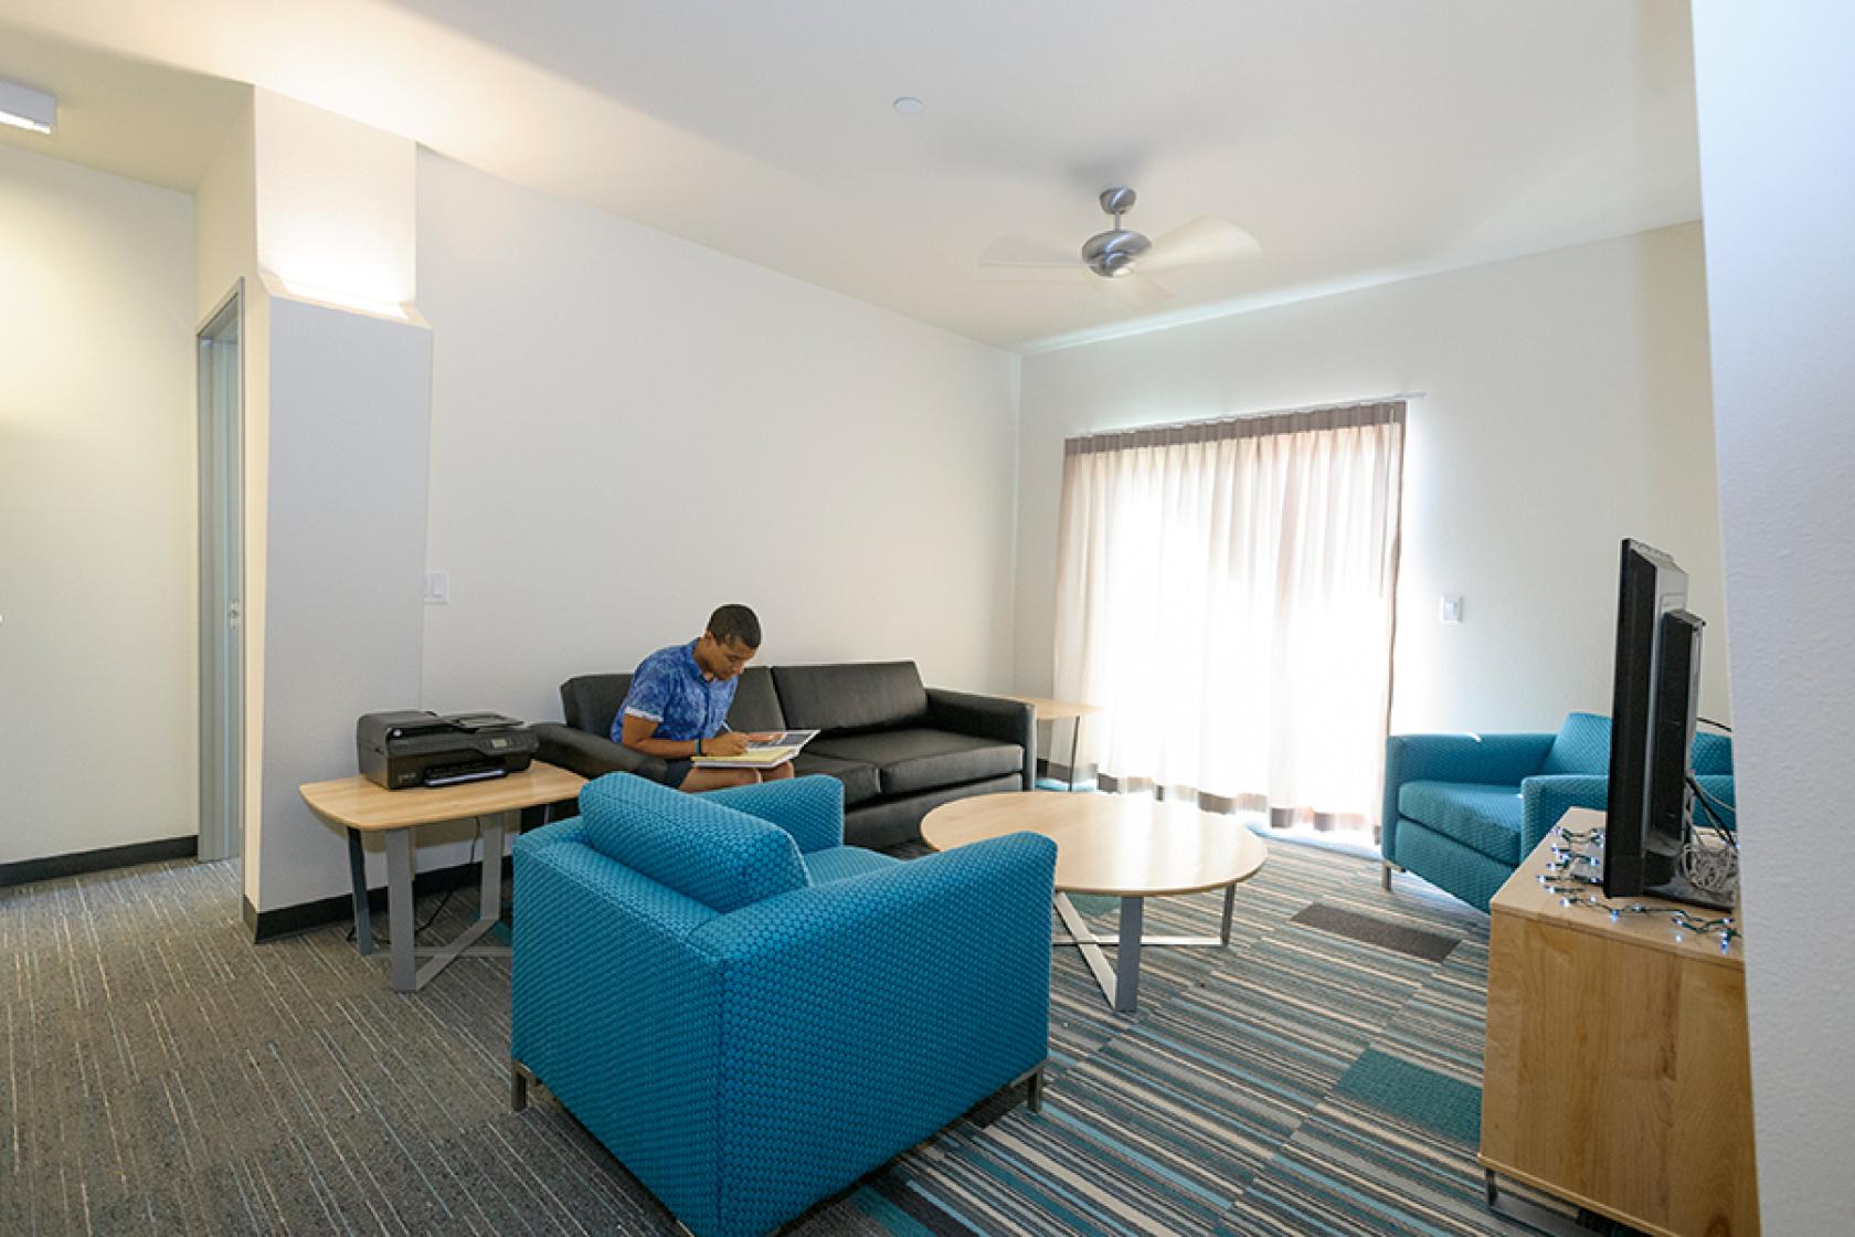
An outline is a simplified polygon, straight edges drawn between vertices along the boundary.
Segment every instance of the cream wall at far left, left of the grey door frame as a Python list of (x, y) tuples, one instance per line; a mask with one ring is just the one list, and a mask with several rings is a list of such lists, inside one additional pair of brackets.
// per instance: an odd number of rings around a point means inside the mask
[(197, 835), (193, 198), (0, 147), (0, 862)]

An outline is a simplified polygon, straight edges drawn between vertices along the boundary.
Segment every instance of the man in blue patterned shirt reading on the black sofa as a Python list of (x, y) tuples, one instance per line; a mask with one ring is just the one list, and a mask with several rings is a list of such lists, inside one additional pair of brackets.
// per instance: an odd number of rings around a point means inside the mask
[(761, 649), (761, 619), (742, 605), (709, 616), (690, 644), (673, 644), (638, 662), (631, 692), (612, 720), (612, 742), (670, 764), (664, 781), (681, 790), (720, 790), (792, 777), (792, 764), (770, 770), (718, 770), (694, 757), (738, 757), (748, 734), (727, 729), (740, 671)]

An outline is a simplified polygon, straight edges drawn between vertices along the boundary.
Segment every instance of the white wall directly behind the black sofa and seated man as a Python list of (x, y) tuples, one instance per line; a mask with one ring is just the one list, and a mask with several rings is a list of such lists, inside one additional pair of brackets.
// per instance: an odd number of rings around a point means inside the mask
[(419, 310), (427, 707), (558, 718), (723, 601), (1007, 686), (1017, 358), (427, 152)]

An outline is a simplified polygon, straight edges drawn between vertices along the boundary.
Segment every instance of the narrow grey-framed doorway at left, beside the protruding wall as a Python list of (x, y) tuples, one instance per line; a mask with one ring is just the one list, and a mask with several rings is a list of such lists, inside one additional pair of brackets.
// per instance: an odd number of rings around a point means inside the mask
[(200, 849), (245, 849), (245, 280), (198, 332)]

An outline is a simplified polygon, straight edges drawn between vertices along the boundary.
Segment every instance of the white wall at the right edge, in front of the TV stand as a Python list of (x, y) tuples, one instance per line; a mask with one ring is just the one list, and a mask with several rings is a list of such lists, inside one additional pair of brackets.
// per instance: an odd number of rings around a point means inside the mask
[(1855, 9), (1694, 6), (1766, 1233), (1846, 1233), (1855, 1165)]

